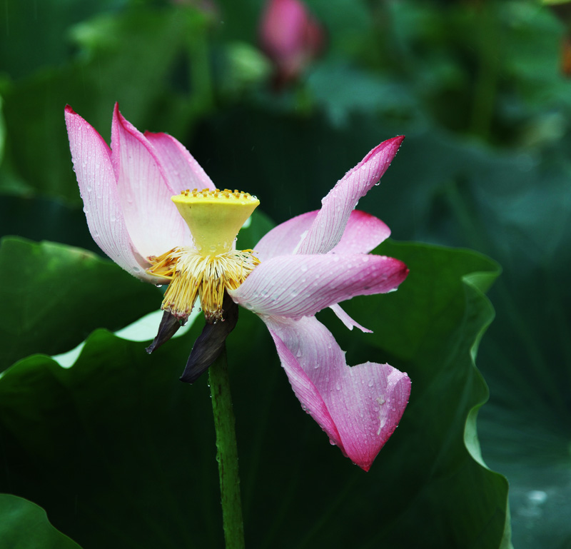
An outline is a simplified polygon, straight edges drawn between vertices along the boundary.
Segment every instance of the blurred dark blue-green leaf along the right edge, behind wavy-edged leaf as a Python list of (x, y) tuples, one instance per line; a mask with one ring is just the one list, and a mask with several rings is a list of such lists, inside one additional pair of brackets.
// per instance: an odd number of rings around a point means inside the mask
[[(395, 234), (470, 246), (502, 264), (503, 276), (490, 291), (497, 318), (478, 362), (492, 401), (482, 408), (482, 450), (510, 479), (515, 546), (568, 545), (569, 139), (540, 155), (476, 147), (434, 133), (411, 137), (403, 151), (410, 145), (418, 165), (398, 156), (390, 168), (405, 186), (381, 185), (380, 201), (365, 207)], [(440, 158), (440, 166), (431, 158)], [(388, 203), (394, 208), (383, 206)], [(407, 206), (413, 223), (400, 216)]]

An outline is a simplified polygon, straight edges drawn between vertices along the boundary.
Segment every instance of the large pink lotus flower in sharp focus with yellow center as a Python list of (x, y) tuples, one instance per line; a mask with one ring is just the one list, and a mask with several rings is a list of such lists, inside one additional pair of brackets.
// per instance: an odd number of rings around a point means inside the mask
[(323, 198), (320, 210), (277, 226), (255, 251), (236, 251), (236, 233), (257, 206), (255, 197), (218, 191), (181, 143), (167, 134), (141, 134), (118, 106), (111, 149), (71, 107), (65, 115), (98, 246), (133, 276), (168, 283), (163, 309), (173, 318), (184, 321), (200, 298), (207, 321), (216, 323), (224, 318), (226, 296), (256, 313), (303, 409), (331, 443), (368, 470), (403, 415), (410, 379), (388, 364), (348, 366), (315, 313), (330, 307), (348, 328), (368, 331), (338, 303), (393, 291), (406, 278), (398, 259), (369, 253), (389, 228), (354, 209), (403, 137), (373, 148)]

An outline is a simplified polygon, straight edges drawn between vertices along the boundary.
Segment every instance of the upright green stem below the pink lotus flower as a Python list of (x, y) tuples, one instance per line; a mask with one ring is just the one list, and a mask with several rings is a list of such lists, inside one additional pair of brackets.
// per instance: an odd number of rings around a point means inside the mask
[(238, 475), (238, 450), (226, 348), (208, 368), (216, 430), (216, 461), (220, 478), (222, 522), (226, 549), (244, 549), (244, 525)]

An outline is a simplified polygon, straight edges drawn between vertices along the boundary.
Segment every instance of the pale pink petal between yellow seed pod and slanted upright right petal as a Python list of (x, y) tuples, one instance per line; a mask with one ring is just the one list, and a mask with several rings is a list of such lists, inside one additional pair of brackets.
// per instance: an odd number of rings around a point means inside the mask
[(276, 256), (289, 256), (295, 253), (301, 239), (309, 231), (318, 210), (302, 213), (274, 227), (259, 241), (254, 250), (261, 261), (266, 261)]

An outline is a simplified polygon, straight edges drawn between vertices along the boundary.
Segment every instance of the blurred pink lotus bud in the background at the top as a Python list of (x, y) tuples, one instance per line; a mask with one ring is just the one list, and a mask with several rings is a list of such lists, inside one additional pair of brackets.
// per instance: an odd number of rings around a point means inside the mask
[(300, 0), (269, 0), (259, 35), (261, 48), (273, 63), (278, 89), (297, 79), (325, 43), (321, 25)]

